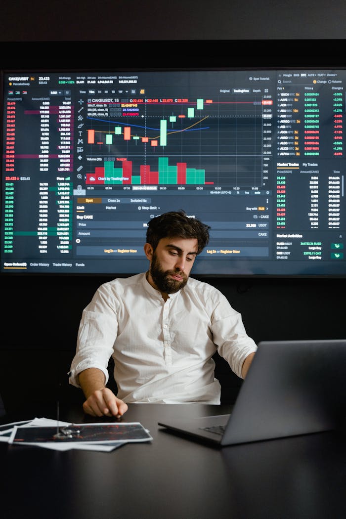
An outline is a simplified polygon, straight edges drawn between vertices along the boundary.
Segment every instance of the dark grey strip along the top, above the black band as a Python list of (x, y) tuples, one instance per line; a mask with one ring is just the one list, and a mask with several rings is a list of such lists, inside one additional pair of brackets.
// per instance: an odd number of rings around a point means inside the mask
[(16, 0), (2, 2), (0, 39), (344, 38), (345, 10), (343, 0)]

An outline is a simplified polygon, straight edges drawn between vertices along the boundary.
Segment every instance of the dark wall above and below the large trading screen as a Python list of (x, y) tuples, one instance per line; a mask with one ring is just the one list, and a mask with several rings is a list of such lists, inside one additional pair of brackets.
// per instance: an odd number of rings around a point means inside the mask
[[(344, 64), (344, 0), (306, 2), (262, 0), (51, 0), (3, 3), (0, 16), (0, 67), (47, 66), (54, 56), (68, 67), (107, 60), (123, 66), (150, 66), (155, 52), (176, 66), (241, 64), (242, 52), (295, 65)], [(300, 39), (305, 40), (300, 45)], [(338, 39), (340, 41), (333, 42)], [(184, 45), (172, 45), (185, 40)], [(186, 45), (186, 40), (189, 45)], [(228, 40), (238, 40), (238, 47)], [(308, 44), (307, 44), (308, 40)], [(28, 43), (34, 45), (27, 45)], [(68, 43), (67, 43), (68, 42)], [(148, 46), (148, 42), (151, 45)], [(325, 45), (324, 45), (325, 43)], [(235, 50), (237, 49), (237, 50)], [(343, 61), (342, 61), (343, 60)], [(41, 64), (41, 65), (40, 65)], [(67, 385), (82, 308), (96, 288), (111, 278), (1, 277), (3, 334), (0, 394), (5, 406), (20, 409), (32, 401), (81, 400)], [(345, 337), (345, 280), (207, 279), (222, 290), (256, 342), (265, 339)], [(239, 380), (218, 361), (224, 401), (232, 400)]]

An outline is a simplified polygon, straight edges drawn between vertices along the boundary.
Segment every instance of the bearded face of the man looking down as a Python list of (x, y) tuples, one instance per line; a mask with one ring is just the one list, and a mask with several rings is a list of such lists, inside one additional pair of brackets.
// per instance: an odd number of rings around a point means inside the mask
[(155, 251), (149, 244), (146, 246), (150, 259), (149, 283), (166, 294), (181, 290), (195, 262), (197, 238), (163, 238)]

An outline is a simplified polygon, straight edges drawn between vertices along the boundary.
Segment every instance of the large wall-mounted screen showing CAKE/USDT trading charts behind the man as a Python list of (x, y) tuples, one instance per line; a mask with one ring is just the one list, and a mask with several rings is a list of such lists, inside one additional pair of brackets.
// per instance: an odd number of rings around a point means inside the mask
[(127, 276), (147, 223), (198, 276), (345, 276), (346, 70), (4, 71), (1, 272)]

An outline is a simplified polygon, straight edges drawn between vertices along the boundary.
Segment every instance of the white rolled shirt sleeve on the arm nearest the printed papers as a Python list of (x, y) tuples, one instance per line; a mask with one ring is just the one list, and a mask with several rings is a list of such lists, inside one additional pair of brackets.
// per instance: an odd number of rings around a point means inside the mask
[(108, 362), (117, 336), (117, 305), (101, 286), (83, 310), (79, 323), (76, 354), (70, 370), (70, 384), (80, 387), (78, 375), (90, 367), (101, 370), (107, 384)]

